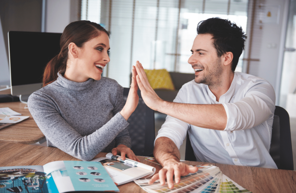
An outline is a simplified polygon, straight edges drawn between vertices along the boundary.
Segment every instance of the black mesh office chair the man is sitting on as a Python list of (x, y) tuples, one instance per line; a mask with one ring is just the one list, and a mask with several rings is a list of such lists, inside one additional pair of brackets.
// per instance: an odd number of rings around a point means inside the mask
[[(278, 169), (294, 170), (289, 114), (280, 106), (275, 106), (269, 154)], [(188, 133), (185, 160), (196, 161)]]

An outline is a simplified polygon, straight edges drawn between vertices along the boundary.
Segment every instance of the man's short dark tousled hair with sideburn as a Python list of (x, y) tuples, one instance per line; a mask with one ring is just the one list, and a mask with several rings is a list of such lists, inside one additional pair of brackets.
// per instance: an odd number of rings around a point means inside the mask
[(231, 70), (234, 71), (238, 59), (245, 48), (246, 34), (242, 27), (238, 27), (235, 23), (219, 17), (209, 18), (201, 21), (197, 26), (198, 34), (211, 34), (214, 40), (214, 47), (217, 50), (218, 57), (226, 52), (233, 53)]

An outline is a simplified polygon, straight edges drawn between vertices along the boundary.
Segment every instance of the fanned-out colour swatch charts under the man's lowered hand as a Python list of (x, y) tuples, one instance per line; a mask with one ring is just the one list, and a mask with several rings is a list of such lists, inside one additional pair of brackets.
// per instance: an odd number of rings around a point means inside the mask
[(196, 173), (190, 173), (187, 176), (181, 176), (179, 184), (175, 184), (173, 189), (169, 189), (167, 183), (162, 186), (159, 180), (152, 185), (148, 184), (150, 179), (134, 180), (141, 188), (151, 193), (188, 193), (188, 192), (243, 192), (252, 193), (249, 190), (241, 187), (233, 180), (222, 174), (216, 166), (205, 164), (198, 165)]

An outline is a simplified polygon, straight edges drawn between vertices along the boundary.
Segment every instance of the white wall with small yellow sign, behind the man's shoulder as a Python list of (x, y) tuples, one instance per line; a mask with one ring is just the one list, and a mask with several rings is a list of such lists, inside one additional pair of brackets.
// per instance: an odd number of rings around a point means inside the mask
[[(278, 105), (282, 75), (283, 53), (288, 18), (289, 0), (258, 0), (255, 6), (252, 50), (250, 53), (249, 74), (269, 81), (275, 89)], [(248, 20), (251, 19), (250, 5)], [(270, 11), (270, 17), (268, 12)], [(248, 22), (251, 22), (249, 20)], [(247, 31), (246, 55), (250, 46), (251, 31)], [(258, 60), (259, 61), (256, 61)], [(247, 62), (244, 62), (246, 64)]]

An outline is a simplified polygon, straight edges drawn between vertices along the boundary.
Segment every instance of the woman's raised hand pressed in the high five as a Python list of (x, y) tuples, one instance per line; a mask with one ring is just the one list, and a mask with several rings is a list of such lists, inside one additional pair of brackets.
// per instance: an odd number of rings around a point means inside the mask
[(137, 76), (137, 71), (136, 71), (136, 68), (133, 66), (130, 91), (127, 95), (127, 101), (123, 109), (120, 111), (120, 114), (124, 117), (125, 120), (127, 120), (130, 117), (130, 115), (134, 112), (139, 102), (139, 96), (137, 93), (138, 86), (137, 86), (136, 76)]

